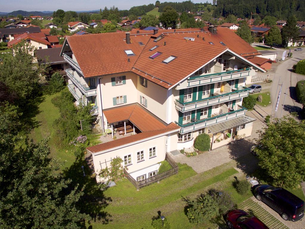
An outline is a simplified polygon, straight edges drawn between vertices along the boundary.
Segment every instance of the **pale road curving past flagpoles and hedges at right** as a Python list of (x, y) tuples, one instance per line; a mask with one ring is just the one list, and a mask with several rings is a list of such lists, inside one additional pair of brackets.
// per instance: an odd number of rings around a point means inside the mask
[[(284, 50), (277, 49), (276, 51), (279, 52), (277, 59), (281, 59)], [(284, 115), (289, 115), (289, 113), (291, 112), (299, 113), (303, 107), (303, 105), (300, 104), (296, 99), (295, 86), (298, 81), (305, 80), (305, 76), (292, 72), (292, 66), (296, 64), (298, 61), (305, 59), (305, 50), (304, 49), (303, 51), (292, 50), (292, 53), (293, 53), (293, 57), (280, 63), (274, 72), (270, 95), (271, 95), (271, 105), (274, 106), (272, 115), (276, 118), (280, 118), (283, 105), (284, 107), (282, 111), (282, 117)], [(275, 107), (278, 100), (278, 93), (280, 91), (281, 85), (282, 85), (282, 90), (281, 90), (280, 100), (278, 103), (278, 110), (277, 112), (275, 112)], [(287, 89), (287, 95), (284, 103), (286, 89)]]

